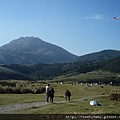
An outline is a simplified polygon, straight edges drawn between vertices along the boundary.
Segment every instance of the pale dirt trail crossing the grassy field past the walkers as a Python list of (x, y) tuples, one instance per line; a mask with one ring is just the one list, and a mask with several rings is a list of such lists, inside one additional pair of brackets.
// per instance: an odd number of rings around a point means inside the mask
[[(97, 96), (87, 96), (84, 98), (76, 99), (76, 100), (71, 100), (70, 102), (78, 102), (78, 101), (83, 101), (88, 98), (95, 98), (95, 97), (102, 97), (102, 96), (107, 96), (107, 95), (97, 95)], [(54, 103), (66, 103), (69, 101), (56, 101)], [(14, 110), (19, 110), (19, 109), (26, 109), (26, 108), (31, 108), (31, 107), (39, 107), (43, 106), (46, 104), (51, 104), (51, 103), (46, 103), (46, 102), (34, 102), (34, 103), (26, 103), (26, 104), (15, 104), (15, 105), (10, 105), (10, 106), (0, 106), (0, 114), (3, 112), (9, 112), (9, 111), (14, 111)]]

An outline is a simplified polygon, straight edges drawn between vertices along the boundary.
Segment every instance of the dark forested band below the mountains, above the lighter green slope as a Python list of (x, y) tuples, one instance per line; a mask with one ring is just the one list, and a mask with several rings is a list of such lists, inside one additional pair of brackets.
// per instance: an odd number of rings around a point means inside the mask
[[(2, 65), (4, 68), (11, 69), (11, 72), (0, 71), (0, 79), (16, 79), (16, 80), (50, 80), (61, 75), (77, 75), (87, 73), (94, 70), (106, 70), (113, 73), (120, 73), (120, 57), (109, 60), (95, 61), (76, 61), (71, 63), (55, 63), (55, 64), (35, 64), (20, 65), (9, 64)], [(16, 72), (12, 72), (12, 70)]]

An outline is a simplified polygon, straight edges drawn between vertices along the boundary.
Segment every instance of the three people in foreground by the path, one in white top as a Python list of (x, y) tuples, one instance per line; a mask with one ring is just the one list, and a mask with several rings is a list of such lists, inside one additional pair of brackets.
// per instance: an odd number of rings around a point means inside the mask
[[(53, 103), (54, 93), (55, 93), (54, 88), (50, 87), (50, 84), (48, 84), (46, 86), (46, 102), (49, 103), (49, 98), (50, 98), (50, 102)], [(70, 101), (71, 92), (68, 89), (66, 89), (64, 96), (66, 101), (67, 100)]]

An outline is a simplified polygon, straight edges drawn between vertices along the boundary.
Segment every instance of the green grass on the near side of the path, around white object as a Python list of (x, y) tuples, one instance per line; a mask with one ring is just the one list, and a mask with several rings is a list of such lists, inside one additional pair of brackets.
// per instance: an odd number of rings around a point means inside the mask
[(119, 114), (120, 102), (111, 101), (108, 97), (96, 98), (102, 106), (90, 106), (87, 99), (79, 102), (49, 104), (40, 107), (8, 112), (9, 114)]

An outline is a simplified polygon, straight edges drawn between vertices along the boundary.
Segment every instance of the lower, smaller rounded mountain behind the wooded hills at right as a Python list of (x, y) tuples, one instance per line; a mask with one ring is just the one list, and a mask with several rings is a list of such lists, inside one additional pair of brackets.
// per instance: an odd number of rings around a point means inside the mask
[(103, 50), (100, 52), (95, 52), (95, 53), (80, 56), (77, 60), (78, 61), (94, 61), (94, 60), (111, 59), (119, 56), (120, 56), (119, 50)]

